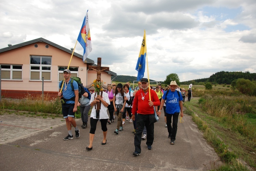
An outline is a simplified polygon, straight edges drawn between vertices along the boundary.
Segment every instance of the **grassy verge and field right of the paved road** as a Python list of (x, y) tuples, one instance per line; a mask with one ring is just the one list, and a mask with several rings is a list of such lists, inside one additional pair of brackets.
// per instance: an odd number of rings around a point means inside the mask
[(211, 95), (192, 98), (184, 113), (192, 116), (225, 163), (213, 170), (248, 170), (238, 158), (256, 169), (255, 97)]

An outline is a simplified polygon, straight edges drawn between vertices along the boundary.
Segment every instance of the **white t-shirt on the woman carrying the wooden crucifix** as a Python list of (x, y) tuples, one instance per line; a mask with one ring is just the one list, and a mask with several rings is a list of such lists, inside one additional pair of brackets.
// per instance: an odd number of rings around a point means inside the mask
[[(95, 98), (95, 92), (91, 95), (90, 104), (94, 101), (94, 98)], [(110, 105), (108, 93), (103, 91), (102, 99)], [(97, 106), (96, 106), (96, 108), (97, 108)], [(93, 108), (91, 109), (91, 118), (97, 119), (95, 106), (93, 106)], [(107, 107), (104, 106), (102, 103), (101, 103), (101, 108), (100, 108), (100, 118), (99, 119), (109, 119), (109, 115), (107, 113)]]

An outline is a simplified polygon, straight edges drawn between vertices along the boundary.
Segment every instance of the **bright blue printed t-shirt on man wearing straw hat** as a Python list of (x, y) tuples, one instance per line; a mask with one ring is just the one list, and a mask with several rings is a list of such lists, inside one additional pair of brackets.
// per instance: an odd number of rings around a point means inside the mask
[[(168, 90), (167, 90), (168, 91)], [(168, 95), (166, 97), (167, 91), (163, 93), (162, 99), (166, 99), (166, 113), (167, 114), (174, 114), (180, 112), (180, 101), (182, 101), (181, 93), (177, 90), (172, 92), (169, 90)], [(178, 95), (180, 93), (180, 97)]]

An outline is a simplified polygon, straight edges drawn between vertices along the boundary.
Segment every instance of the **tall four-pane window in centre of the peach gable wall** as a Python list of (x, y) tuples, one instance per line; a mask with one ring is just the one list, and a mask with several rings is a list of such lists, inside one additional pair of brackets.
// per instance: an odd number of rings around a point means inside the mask
[(51, 80), (52, 56), (30, 55), (30, 80)]

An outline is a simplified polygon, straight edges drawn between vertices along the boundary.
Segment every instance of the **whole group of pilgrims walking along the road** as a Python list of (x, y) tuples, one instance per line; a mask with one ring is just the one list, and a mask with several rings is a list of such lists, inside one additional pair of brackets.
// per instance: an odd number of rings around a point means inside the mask
[[(165, 121), (168, 130), (168, 138), (170, 144), (174, 144), (177, 132), (177, 122), (180, 116), (183, 117), (183, 103), (186, 95), (188, 97), (191, 90), (187, 92), (185, 89), (180, 90), (175, 81), (172, 81), (165, 89), (157, 86), (156, 90), (149, 87), (148, 79), (142, 78), (138, 83), (138, 87), (132, 90), (130, 83), (125, 85), (112, 83), (107, 86), (106, 91), (101, 91), (99, 95), (94, 92), (85, 92), (79, 101), (78, 85), (75, 81), (71, 83), (71, 73), (69, 69), (63, 71), (65, 78), (65, 88), (59, 91), (58, 96), (64, 100), (62, 103), (62, 114), (66, 120), (68, 136), (63, 140), (73, 139), (71, 125), (75, 129), (75, 137), (80, 137), (79, 129), (74, 120), (74, 114), (77, 111), (77, 106), (80, 105), (81, 118), (83, 121), (82, 128), (87, 127), (88, 112), (90, 114), (90, 132), (89, 145), (86, 150), (93, 149), (93, 140), (96, 131), (96, 125), (100, 121), (101, 130), (103, 132), (102, 145), (107, 142), (107, 124), (113, 124), (115, 116), (117, 117), (116, 129), (113, 131), (118, 135), (124, 129), (125, 120), (133, 123), (134, 130), (134, 147), (133, 155), (141, 154), (141, 140), (146, 139), (147, 149), (152, 149), (154, 141), (154, 122), (156, 118), (161, 116), (161, 109), (165, 113)], [(59, 89), (61, 90), (61, 83)], [(185, 93), (184, 93), (185, 92)], [(184, 97), (185, 96), (185, 97)], [(190, 101), (190, 98), (188, 99)], [(100, 105), (100, 110), (96, 106)], [(109, 111), (109, 115), (107, 113)], [(97, 112), (99, 113), (97, 114)], [(157, 116), (156, 116), (157, 115)], [(172, 123), (172, 124), (171, 124)]]

